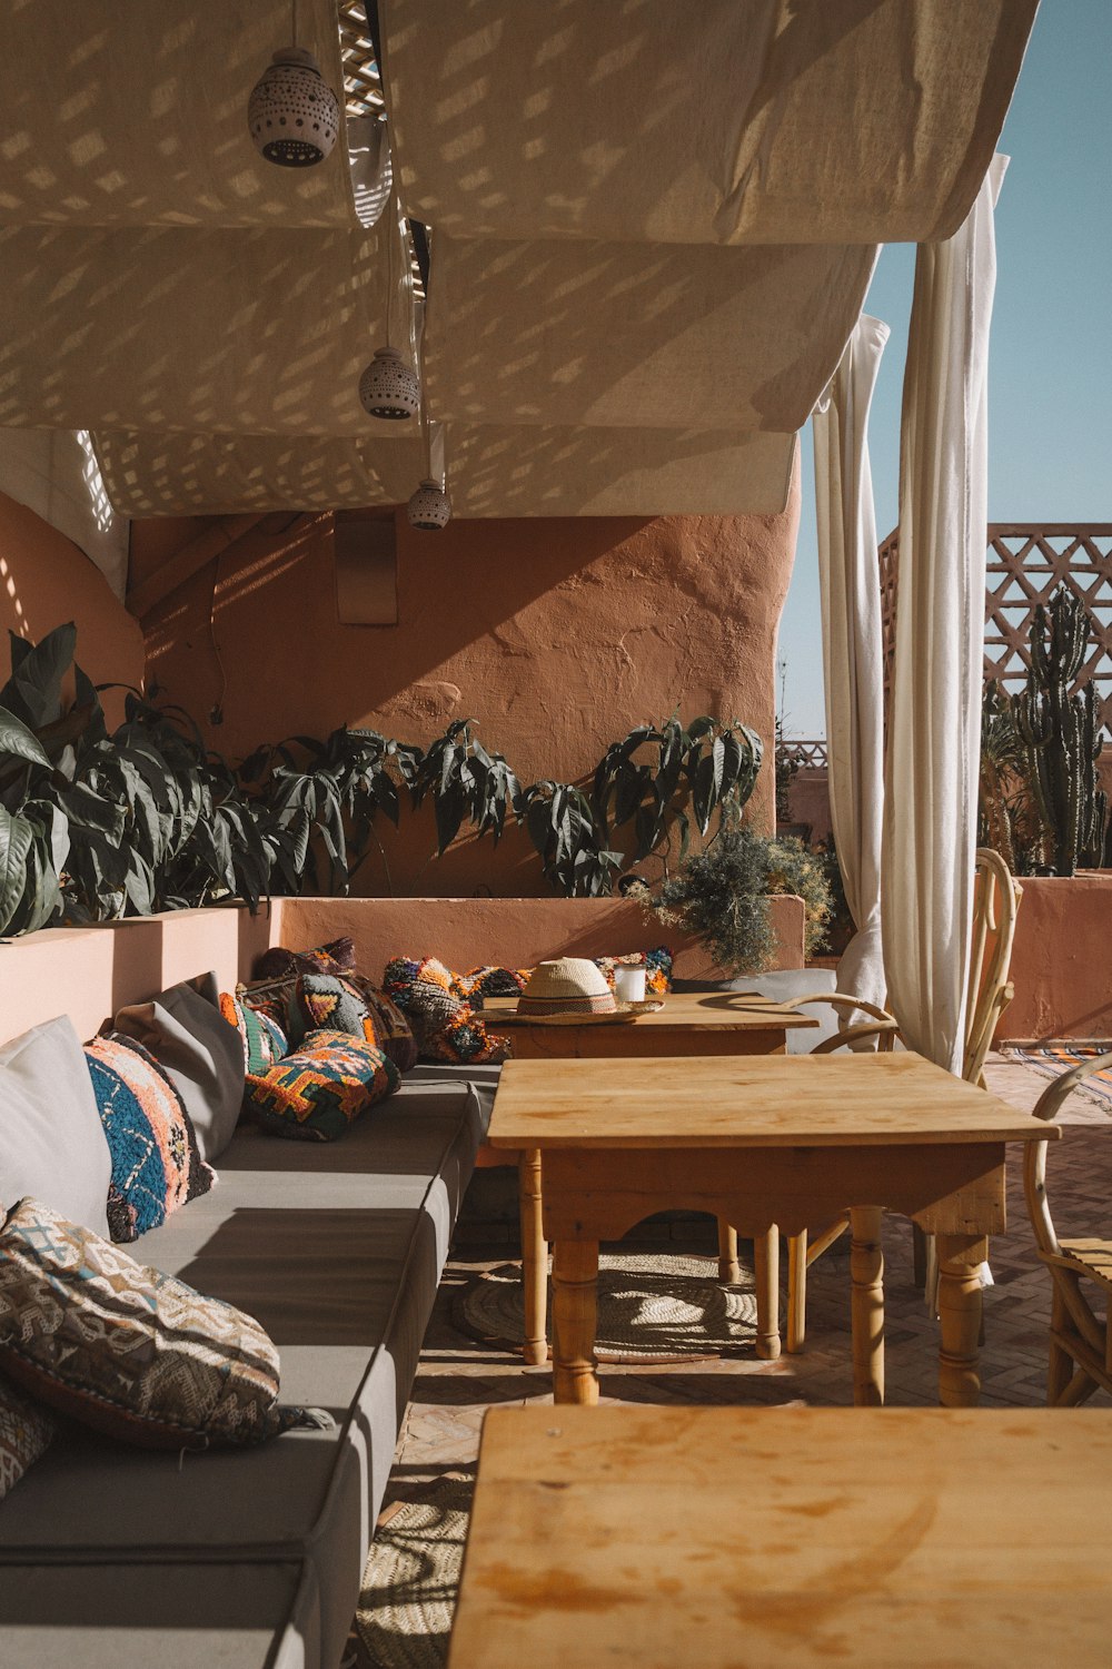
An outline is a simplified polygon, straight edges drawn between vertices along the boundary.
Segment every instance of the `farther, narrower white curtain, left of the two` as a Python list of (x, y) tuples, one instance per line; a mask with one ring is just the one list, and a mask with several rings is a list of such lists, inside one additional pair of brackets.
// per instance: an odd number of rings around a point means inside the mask
[(880, 834), (884, 824), (884, 636), (869, 406), (889, 327), (864, 314), (827, 399), (812, 417), (827, 694), (830, 821), (857, 933), (839, 990), (884, 1003)]

